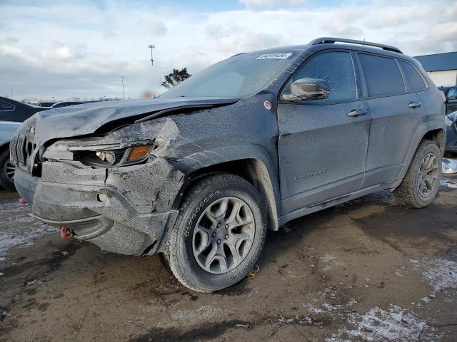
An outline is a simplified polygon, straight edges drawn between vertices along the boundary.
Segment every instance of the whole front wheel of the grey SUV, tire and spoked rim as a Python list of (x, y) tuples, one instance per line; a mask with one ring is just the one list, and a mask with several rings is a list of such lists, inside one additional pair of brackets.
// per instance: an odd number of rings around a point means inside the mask
[(236, 284), (255, 265), (266, 237), (257, 190), (236, 175), (200, 180), (183, 199), (166, 258), (176, 279), (194, 291)]

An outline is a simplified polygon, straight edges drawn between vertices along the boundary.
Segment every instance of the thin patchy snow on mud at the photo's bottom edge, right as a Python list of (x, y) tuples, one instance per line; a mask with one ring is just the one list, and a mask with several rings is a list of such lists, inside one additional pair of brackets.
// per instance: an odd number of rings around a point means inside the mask
[(373, 308), (364, 315), (351, 314), (347, 322), (354, 328), (339, 328), (327, 342), (341, 341), (438, 341), (441, 338), (425, 321), (400, 306), (389, 305), (388, 311)]

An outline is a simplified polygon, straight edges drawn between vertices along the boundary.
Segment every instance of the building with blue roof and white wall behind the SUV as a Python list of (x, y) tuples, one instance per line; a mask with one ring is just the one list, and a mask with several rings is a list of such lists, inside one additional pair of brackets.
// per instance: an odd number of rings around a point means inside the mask
[(457, 85), (457, 51), (416, 56), (436, 86)]

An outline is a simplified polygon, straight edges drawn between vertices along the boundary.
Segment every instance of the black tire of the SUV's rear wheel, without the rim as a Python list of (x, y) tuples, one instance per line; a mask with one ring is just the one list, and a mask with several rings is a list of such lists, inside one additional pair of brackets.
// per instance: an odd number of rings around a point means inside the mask
[[(428, 154), (432, 154), (437, 160), (437, 172), (436, 172), (436, 183), (428, 193), (423, 196), (419, 190), (419, 173), (421, 170), (421, 163), (423, 158)], [(422, 208), (428, 206), (433, 199), (435, 199), (441, 181), (441, 162), (443, 161), (443, 155), (435, 141), (423, 140), (414, 154), (411, 165), (409, 165), (408, 172), (406, 172), (405, 178), (401, 185), (393, 192), (396, 196), (397, 201), (400, 204), (406, 205), (413, 208)]]

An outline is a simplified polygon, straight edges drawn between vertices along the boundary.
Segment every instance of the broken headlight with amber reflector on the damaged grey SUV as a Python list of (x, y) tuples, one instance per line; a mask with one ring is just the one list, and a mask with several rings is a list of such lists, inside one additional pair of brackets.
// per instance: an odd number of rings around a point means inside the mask
[(124, 144), (96, 145), (60, 141), (49, 146), (44, 152), (44, 159), (56, 161), (81, 162), (90, 167), (116, 167), (132, 165), (146, 160), (153, 151), (159, 150), (159, 142), (147, 140)]

